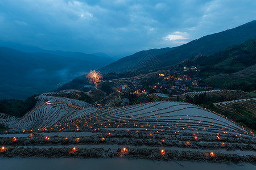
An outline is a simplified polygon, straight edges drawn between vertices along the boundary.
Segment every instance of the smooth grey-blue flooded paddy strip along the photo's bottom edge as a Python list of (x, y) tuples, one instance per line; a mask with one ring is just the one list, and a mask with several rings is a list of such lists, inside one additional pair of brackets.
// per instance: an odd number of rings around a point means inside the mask
[(73, 158), (3, 158), (0, 159), (1, 169), (255, 169), (252, 164), (218, 164), (206, 162), (153, 161), (144, 159), (73, 159)]

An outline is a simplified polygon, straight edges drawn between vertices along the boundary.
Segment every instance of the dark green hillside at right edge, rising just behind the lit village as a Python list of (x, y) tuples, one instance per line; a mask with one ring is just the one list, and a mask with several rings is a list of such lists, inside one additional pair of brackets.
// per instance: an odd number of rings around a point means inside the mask
[(256, 89), (256, 38), (209, 56), (192, 57), (181, 67), (191, 65), (200, 67), (200, 71), (188, 74), (204, 78), (207, 83), (220, 88), (241, 87), (240, 90), (253, 91)]

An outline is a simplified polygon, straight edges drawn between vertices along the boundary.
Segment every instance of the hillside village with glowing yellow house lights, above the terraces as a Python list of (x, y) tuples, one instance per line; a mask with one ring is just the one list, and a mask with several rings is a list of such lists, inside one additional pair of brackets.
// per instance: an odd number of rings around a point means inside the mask
[(182, 95), (192, 91), (209, 91), (213, 89), (211, 84), (203, 81), (203, 78), (186, 75), (186, 71), (199, 71), (195, 66), (180, 69), (167, 69), (151, 74), (139, 75), (134, 78), (121, 79), (116, 83), (115, 89), (123, 96), (135, 94), (137, 97), (154, 93), (166, 95)]

